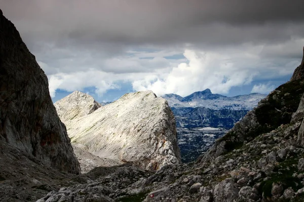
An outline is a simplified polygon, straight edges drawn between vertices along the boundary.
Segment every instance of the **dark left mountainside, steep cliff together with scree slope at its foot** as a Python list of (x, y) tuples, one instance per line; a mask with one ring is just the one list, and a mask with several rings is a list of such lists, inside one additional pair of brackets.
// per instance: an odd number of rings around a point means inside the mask
[(79, 162), (48, 78), (0, 10), (0, 201), (36, 200), (74, 174)]

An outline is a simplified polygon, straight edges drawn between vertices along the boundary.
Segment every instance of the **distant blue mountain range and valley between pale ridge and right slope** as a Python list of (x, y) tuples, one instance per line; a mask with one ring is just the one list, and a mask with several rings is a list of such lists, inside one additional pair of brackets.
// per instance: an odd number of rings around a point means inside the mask
[(251, 93), (227, 97), (210, 89), (185, 97), (163, 95), (175, 116), (182, 161), (195, 161), (265, 96)]

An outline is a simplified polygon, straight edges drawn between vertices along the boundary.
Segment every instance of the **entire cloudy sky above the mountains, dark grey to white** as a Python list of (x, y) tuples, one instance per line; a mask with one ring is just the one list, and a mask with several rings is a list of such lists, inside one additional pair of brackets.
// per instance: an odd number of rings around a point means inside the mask
[(99, 102), (151, 89), (268, 93), (302, 59), (304, 1), (0, 0), (49, 78)]

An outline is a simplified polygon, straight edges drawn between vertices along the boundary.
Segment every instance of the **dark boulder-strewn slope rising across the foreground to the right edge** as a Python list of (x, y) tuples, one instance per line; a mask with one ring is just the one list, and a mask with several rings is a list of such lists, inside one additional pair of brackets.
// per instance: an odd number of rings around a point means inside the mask
[(303, 66), (297, 68), (289, 82), (262, 99), (197, 162), (168, 165), (157, 172), (127, 165), (95, 168), (82, 176), (81, 183), (50, 192), (40, 202), (85, 201), (85, 197), (97, 201), (304, 201), (304, 75), (298, 74), (302, 71)]

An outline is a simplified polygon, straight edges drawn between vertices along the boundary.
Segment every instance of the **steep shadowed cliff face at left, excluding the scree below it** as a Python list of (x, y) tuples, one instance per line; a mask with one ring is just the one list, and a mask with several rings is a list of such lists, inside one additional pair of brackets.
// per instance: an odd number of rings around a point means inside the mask
[(2, 11), (0, 30), (0, 144), (9, 143), (60, 171), (80, 173), (47, 76)]

